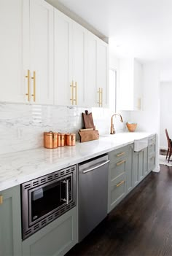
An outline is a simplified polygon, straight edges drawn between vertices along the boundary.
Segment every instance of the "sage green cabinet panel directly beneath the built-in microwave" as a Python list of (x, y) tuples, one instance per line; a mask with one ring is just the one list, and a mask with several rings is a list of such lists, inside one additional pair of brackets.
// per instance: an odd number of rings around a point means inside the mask
[(77, 207), (23, 241), (23, 256), (58, 256), (77, 244)]

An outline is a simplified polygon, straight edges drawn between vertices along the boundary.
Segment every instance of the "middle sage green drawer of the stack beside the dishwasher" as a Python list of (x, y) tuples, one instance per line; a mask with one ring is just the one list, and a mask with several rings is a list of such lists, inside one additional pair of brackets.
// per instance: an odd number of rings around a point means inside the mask
[(117, 162), (112, 162), (109, 166), (111, 170), (111, 181), (118, 177), (120, 174), (125, 172), (126, 169), (126, 161), (127, 158), (122, 158), (121, 160), (118, 160)]

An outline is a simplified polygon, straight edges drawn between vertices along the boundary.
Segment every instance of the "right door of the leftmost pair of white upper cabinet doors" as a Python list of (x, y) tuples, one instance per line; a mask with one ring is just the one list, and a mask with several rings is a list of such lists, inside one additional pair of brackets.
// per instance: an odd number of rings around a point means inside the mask
[(31, 101), (53, 104), (53, 7), (30, 0)]

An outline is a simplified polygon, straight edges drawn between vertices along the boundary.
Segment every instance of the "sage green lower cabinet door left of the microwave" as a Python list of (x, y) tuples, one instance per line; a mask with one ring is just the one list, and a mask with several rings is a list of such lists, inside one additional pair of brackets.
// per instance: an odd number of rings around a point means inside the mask
[(0, 191), (0, 256), (21, 256), (20, 186)]

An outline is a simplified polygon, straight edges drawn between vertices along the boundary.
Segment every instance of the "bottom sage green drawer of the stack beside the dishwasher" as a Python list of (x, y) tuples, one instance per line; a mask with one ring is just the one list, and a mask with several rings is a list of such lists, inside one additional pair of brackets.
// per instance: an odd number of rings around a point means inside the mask
[(110, 191), (110, 210), (114, 209), (117, 203), (120, 203), (126, 193), (126, 175), (121, 174), (117, 179), (114, 179), (111, 184)]

